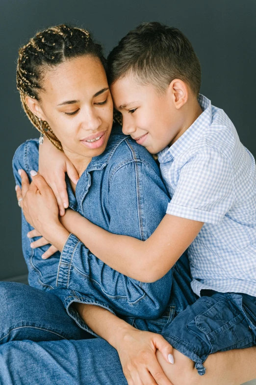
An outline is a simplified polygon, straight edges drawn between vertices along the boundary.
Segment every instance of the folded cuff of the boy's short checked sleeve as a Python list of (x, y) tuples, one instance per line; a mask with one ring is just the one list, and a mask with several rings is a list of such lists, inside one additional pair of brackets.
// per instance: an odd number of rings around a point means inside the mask
[(166, 214), (192, 219), (199, 222), (212, 223), (213, 225), (218, 225), (224, 218), (224, 215), (216, 212), (200, 210), (193, 207), (179, 206), (172, 202), (168, 204)]

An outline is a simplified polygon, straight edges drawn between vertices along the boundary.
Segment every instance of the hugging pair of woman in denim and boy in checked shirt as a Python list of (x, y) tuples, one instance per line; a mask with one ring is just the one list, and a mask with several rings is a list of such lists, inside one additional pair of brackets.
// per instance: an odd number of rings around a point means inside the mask
[(0, 283), (3, 384), (256, 378), (256, 164), (200, 83), (156, 22), (107, 60), (66, 25), (20, 49), (41, 136), (13, 158), (29, 286)]

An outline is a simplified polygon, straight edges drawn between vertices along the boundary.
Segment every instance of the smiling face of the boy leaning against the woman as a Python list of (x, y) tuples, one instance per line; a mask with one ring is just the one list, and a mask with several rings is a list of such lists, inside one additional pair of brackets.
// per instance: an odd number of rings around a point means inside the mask
[(155, 154), (171, 144), (182, 129), (182, 115), (169, 88), (161, 93), (141, 86), (134, 75), (118, 79), (111, 87), (115, 108), (123, 116), (123, 132)]

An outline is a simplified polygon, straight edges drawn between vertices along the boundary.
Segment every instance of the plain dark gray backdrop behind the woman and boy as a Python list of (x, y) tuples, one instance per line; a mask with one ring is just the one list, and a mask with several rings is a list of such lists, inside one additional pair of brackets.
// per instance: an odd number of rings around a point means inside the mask
[(26, 274), (11, 160), (24, 140), (38, 136), (16, 90), (18, 48), (37, 30), (71, 22), (91, 30), (107, 54), (145, 21), (187, 35), (202, 64), (201, 92), (226, 111), (256, 156), (256, 0), (0, 0), (0, 279)]

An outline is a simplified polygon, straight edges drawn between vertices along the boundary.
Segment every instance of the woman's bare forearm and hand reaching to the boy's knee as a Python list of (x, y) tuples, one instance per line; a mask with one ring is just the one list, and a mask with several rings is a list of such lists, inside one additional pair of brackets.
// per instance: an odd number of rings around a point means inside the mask
[(83, 321), (117, 350), (129, 385), (172, 385), (155, 355), (156, 350), (161, 351), (170, 365), (172, 347), (161, 335), (135, 329), (100, 306), (75, 302), (74, 307)]

